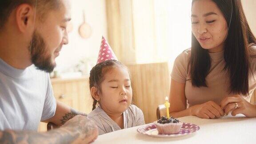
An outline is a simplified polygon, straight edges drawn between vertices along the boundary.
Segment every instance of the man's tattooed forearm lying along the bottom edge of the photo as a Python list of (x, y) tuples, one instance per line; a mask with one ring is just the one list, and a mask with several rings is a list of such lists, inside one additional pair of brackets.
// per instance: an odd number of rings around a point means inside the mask
[(62, 127), (48, 132), (0, 131), (0, 144), (87, 144), (98, 136), (95, 123), (85, 116), (75, 116)]

